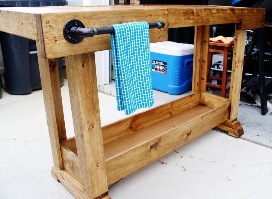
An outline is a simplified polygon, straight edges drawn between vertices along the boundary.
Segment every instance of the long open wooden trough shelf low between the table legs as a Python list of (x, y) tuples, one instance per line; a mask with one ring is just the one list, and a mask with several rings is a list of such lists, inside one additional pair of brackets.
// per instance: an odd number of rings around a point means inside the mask
[[(108, 184), (229, 119), (230, 100), (192, 93), (102, 127)], [(63, 168), (81, 183), (75, 138), (61, 142)]]

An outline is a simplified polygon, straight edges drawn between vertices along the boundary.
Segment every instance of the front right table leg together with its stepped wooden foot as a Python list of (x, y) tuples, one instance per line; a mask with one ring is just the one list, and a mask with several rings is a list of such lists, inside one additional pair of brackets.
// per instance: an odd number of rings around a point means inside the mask
[(246, 39), (246, 30), (237, 30), (235, 28), (235, 39), (233, 46), (233, 60), (232, 60), (232, 77), (229, 92), (229, 99), (232, 101), (230, 118), (228, 121), (217, 126), (219, 129), (225, 130), (229, 135), (240, 137), (244, 130), (237, 120), (238, 108), (241, 93), (241, 82), (244, 64), (244, 47)]

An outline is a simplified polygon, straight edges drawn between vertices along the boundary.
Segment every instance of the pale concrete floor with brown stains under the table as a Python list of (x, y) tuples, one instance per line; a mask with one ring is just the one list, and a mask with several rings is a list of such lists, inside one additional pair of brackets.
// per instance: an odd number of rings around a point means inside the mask
[[(101, 89), (114, 95), (108, 86)], [(61, 91), (70, 137), (73, 121), (66, 80)], [(2, 90), (2, 94), (0, 198), (74, 198), (50, 175), (53, 160), (42, 91), (16, 96)], [(99, 92), (102, 125), (126, 117), (117, 111), (112, 95)], [(155, 106), (177, 97), (154, 91)], [(262, 116), (261, 108), (241, 104), (238, 120), (244, 128), (240, 139), (210, 130), (121, 179), (109, 188), (109, 195), (112, 199), (271, 198), (272, 115)]]

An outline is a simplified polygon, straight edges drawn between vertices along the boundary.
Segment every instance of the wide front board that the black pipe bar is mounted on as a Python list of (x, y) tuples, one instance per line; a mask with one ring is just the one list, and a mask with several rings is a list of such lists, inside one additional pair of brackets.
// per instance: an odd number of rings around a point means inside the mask
[[(110, 18), (108, 16), (111, 16)], [(118, 16), (118, 17), (116, 17)], [(121, 16), (121, 17), (120, 17)], [(168, 17), (167, 9), (160, 10), (114, 10), (114, 11), (92, 11), (82, 15), (82, 12), (71, 13), (51, 13), (41, 14), (41, 23), (43, 27), (43, 39), (45, 48), (45, 57), (62, 57), (78, 53), (87, 53), (111, 49), (109, 34), (95, 35), (84, 38), (79, 44), (70, 44), (63, 36), (64, 24), (71, 20), (80, 20), (85, 27), (101, 28), (109, 27), (112, 24), (147, 21), (148, 23), (164, 21), (165, 28), (150, 29), (150, 42), (167, 41), (168, 38)], [(99, 44), (99, 45), (97, 45)]]

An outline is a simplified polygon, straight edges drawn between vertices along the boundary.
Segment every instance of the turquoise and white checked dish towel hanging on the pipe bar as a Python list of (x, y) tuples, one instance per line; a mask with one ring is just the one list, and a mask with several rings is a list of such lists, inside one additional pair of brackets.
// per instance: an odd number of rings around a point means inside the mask
[(117, 109), (129, 115), (153, 106), (149, 26), (145, 21), (114, 24), (111, 33)]

